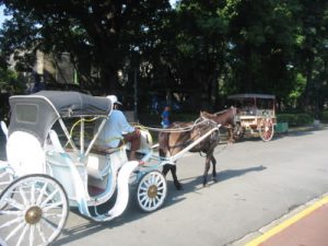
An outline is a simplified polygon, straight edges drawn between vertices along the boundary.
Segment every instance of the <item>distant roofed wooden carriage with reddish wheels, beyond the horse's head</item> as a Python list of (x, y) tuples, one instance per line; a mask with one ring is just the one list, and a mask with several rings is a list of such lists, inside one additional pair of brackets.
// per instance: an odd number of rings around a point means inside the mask
[(241, 140), (248, 136), (259, 136), (267, 142), (273, 138), (276, 117), (276, 96), (270, 94), (234, 94), (227, 96), (238, 108), (234, 137)]

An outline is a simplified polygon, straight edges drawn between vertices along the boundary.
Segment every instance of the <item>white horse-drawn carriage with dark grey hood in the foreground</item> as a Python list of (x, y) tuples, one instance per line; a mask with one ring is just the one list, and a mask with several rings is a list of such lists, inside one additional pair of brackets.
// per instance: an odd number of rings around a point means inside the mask
[[(10, 108), (8, 161), (0, 162), (0, 238), (17, 246), (51, 243), (70, 207), (97, 222), (117, 218), (127, 208), (131, 185), (141, 210), (157, 210), (167, 191), (159, 167), (219, 129), (169, 159), (153, 154), (151, 136), (143, 130), (141, 160), (129, 161), (126, 145), (93, 152), (113, 109), (106, 97), (44, 91), (10, 97)], [(112, 198), (114, 206), (101, 212), (98, 206)]]

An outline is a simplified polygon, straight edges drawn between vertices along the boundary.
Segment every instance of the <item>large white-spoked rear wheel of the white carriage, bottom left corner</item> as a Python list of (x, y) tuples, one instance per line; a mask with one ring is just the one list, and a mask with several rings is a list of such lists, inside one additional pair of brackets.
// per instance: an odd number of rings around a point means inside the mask
[(8, 245), (48, 245), (60, 234), (69, 206), (62, 186), (46, 175), (15, 179), (0, 195), (0, 237)]

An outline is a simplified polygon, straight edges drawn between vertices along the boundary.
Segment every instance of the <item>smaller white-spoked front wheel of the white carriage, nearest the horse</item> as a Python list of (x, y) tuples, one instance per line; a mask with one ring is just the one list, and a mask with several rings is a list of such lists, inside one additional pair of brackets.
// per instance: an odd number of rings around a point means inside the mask
[(142, 211), (153, 212), (164, 203), (166, 194), (164, 175), (159, 171), (151, 171), (138, 184), (137, 201)]

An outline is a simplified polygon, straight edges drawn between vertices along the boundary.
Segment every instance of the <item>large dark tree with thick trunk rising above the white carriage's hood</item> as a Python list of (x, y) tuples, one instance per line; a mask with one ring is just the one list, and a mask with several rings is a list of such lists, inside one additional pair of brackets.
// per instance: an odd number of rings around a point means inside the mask
[[(142, 31), (145, 17), (142, 14), (149, 13), (147, 10), (161, 7), (157, 11), (167, 11), (169, 8), (167, 0), (3, 2), (13, 17), (2, 31), (1, 39), (7, 39), (2, 49), (8, 52), (22, 49), (55, 54), (69, 51), (77, 63), (84, 58), (98, 69), (101, 87), (105, 92), (115, 92), (119, 87), (117, 72), (126, 62), (128, 52), (122, 32), (131, 30), (130, 26), (134, 32), (137, 28)], [(20, 35), (23, 33), (26, 35)]]

